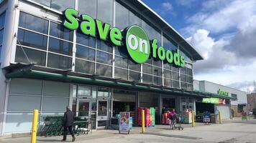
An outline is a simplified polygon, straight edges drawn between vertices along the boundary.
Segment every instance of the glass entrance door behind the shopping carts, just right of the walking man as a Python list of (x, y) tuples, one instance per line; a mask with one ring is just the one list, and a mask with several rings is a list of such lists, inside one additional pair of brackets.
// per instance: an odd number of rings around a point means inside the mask
[(78, 99), (76, 104), (76, 116), (88, 118), (91, 115), (91, 102), (88, 99)]

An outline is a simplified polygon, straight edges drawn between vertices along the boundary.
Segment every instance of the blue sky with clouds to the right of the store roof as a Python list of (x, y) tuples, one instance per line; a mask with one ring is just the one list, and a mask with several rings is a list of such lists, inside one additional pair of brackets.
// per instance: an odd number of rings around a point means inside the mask
[(204, 60), (194, 79), (254, 90), (256, 0), (142, 0), (176, 29)]

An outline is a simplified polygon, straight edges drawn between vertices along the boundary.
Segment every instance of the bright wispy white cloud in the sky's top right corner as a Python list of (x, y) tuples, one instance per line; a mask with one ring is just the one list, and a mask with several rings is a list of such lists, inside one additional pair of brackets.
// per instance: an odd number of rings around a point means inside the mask
[[(214, 9), (212, 10), (211, 8)], [(191, 25), (183, 29), (183, 31), (193, 33), (196, 29), (203, 28), (211, 31), (211, 33), (221, 33), (239, 29), (255, 14), (255, 0), (235, 0), (229, 3), (220, 2), (219, 0), (215, 2), (206, 1), (203, 4), (202, 11), (187, 19)], [(191, 27), (193, 30), (191, 30)]]

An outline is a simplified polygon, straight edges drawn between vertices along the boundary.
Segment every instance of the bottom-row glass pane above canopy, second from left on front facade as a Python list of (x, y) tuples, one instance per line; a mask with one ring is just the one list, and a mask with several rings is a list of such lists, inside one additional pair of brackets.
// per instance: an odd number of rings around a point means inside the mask
[(56, 69), (71, 69), (72, 58), (58, 54), (48, 54), (47, 66)]

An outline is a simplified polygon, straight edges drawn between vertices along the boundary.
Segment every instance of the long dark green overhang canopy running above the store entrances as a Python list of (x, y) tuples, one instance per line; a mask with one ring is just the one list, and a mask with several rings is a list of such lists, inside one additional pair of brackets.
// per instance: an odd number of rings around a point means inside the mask
[(81, 74), (70, 70), (50, 69), (42, 66), (35, 66), (34, 64), (12, 64), (4, 68), (7, 73), (5, 77), (9, 78), (30, 78), (30, 79), (44, 79), (59, 82), (70, 82), (78, 84), (92, 84), (104, 87), (123, 88), (144, 92), (157, 92), (161, 94), (172, 94), (184, 97), (217, 97), (223, 99), (232, 99), (232, 97), (223, 97), (219, 94), (212, 94), (208, 92), (187, 91), (183, 89), (175, 89), (169, 87), (161, 87), (152, 84), (142, 84), (138, 82), (129, 82), (122, 79), (115, 79), (109, 77), (101, 77), (99, 75)]

